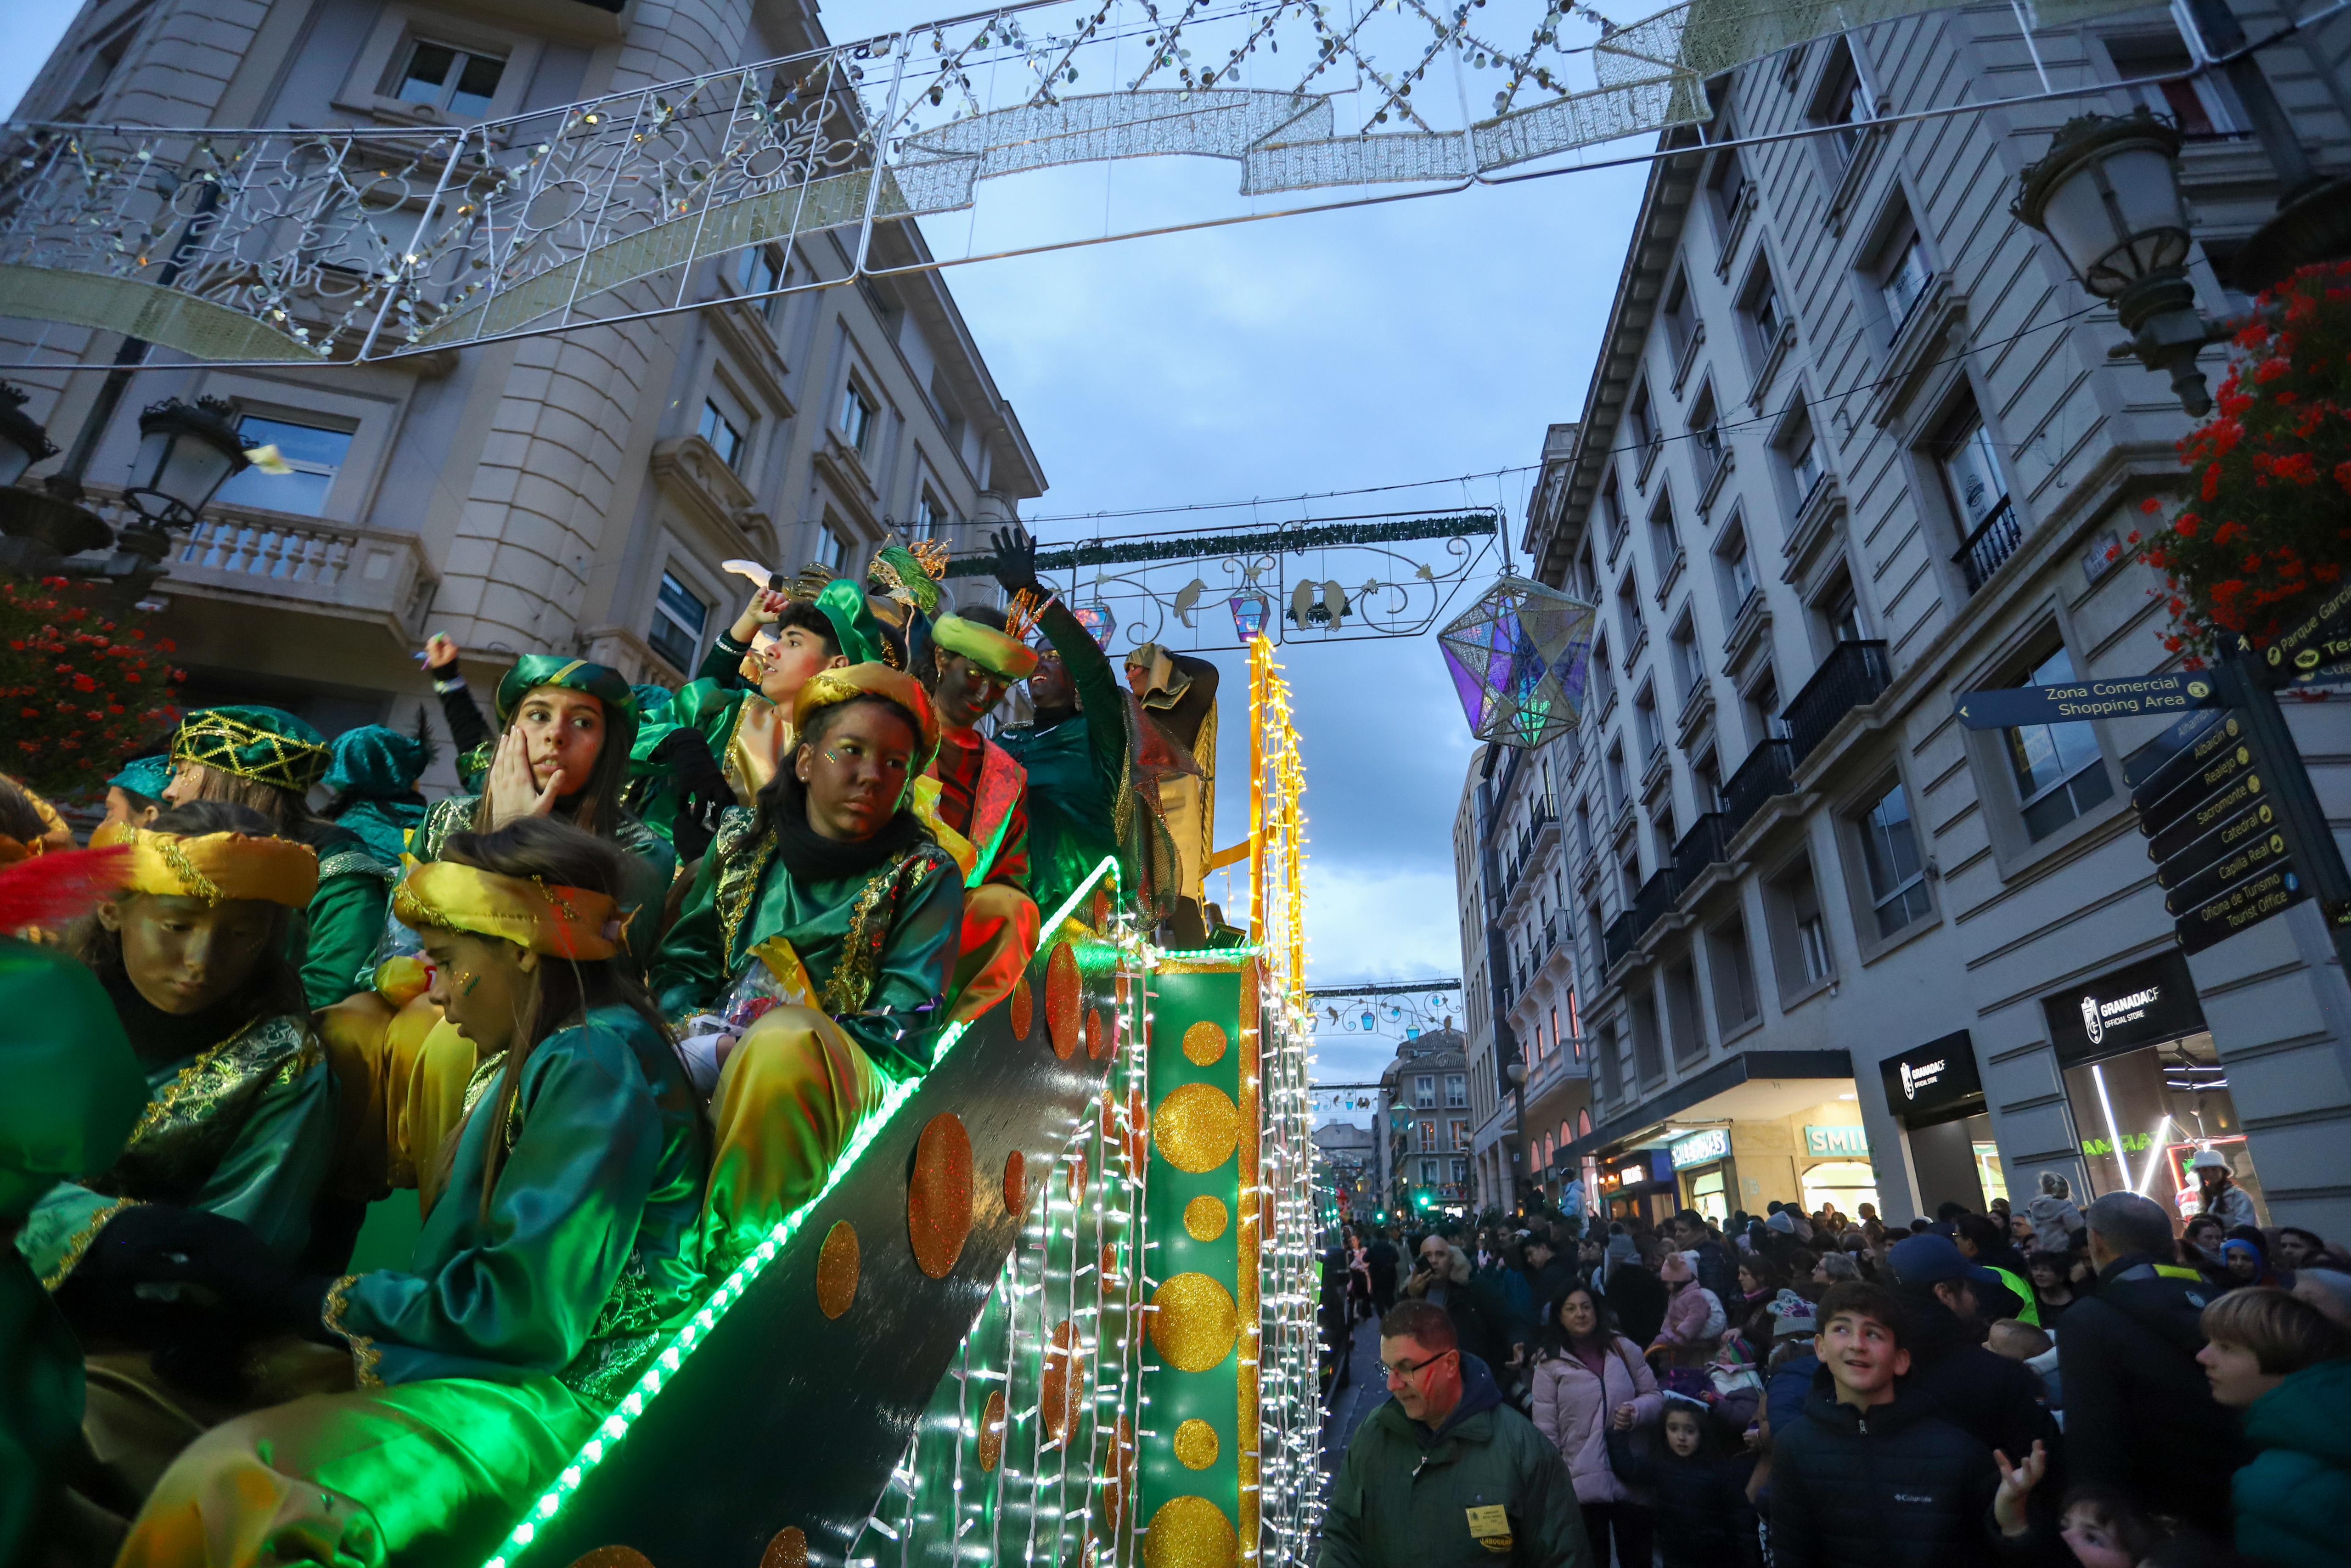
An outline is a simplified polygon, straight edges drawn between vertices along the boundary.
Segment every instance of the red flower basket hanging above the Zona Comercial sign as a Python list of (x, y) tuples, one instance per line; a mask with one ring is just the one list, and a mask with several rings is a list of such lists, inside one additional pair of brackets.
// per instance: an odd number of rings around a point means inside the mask
[[(2306, 618), (2351, 567), (2351, 263), (2262, 294), (2212, 418), (2179, 442), (2196, 489), (2139, 559), (2165, 578), (2163, 646), (2203, 665)], [(2142, 503), (2149, 515), (2161, 503)]]

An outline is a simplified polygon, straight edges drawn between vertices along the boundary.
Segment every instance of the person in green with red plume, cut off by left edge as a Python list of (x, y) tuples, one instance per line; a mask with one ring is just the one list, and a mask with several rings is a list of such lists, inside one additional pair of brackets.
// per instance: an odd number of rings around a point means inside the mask
[[(68, 910), (31, 884), (106, 860), (52, 851), (0, 870), (0, 929), (59, 922)], [(14, 1239), (56, 1182), (115, 1161), (146, 1077), (85, 964), (0, 938), (0, 1234)], [(21, 1561), (35, 1540), (56, 1544), (59, 1523), (45, 1514), (80, 1429), (82, 1345), (24, 1253), (0, 1248), (0, 1563)]]

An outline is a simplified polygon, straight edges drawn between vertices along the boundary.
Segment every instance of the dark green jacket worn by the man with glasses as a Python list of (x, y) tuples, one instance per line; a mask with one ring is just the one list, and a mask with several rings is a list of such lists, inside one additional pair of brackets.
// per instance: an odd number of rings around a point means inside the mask
[[(1500, 1507), (1509, 1549), (1472, 1535), (1469, 1509)], [(1462, 1401), (1429, 1432), (1394, 1399), (1347, 1443), (1319, 1568), (1592, 1568), (1568, 1465), (1535, 1425), (1502, 1403), (1476, 1356), (1462, 1356)]]

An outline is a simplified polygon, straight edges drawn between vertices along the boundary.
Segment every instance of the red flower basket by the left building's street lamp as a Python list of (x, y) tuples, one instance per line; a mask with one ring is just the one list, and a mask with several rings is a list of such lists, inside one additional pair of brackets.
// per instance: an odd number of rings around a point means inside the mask
[(82, 799), (141, 741), (179, 722), (172, 642), (122, 630), (94, 583), (0, 583), (0, 771)]

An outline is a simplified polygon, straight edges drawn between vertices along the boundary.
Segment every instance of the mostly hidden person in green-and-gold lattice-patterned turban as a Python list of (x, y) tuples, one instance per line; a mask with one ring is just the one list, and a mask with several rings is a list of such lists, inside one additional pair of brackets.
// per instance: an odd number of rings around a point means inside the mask
[(400, 875), (397, 860), (376, 858), (360, 835), (310, 813), (308, 795), (331, 759), (327, 738), (282, 708), (205, 708), (172, 736), (172, 783), (162, 792), (174, 806), (249, 806), (273, 832), (317, 851), (317, 896), (292, 950), (313, 1011), (367, 985)]

